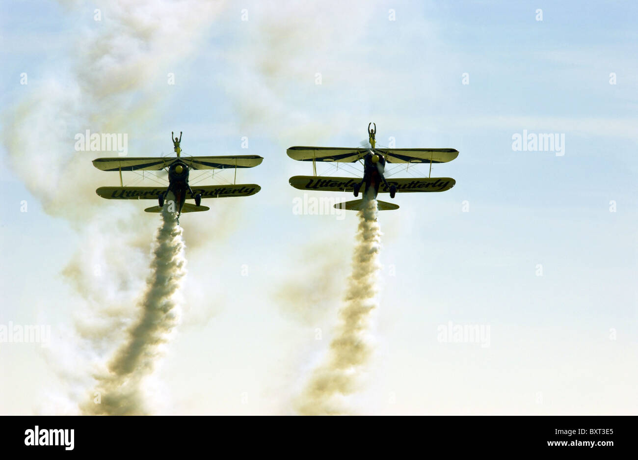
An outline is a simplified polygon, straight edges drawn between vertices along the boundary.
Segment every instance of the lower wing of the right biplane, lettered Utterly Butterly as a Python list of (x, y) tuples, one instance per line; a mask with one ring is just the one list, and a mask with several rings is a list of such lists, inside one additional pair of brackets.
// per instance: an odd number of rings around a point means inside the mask
[[(361, 179), (356, 177), (323, 177), (320, 175), (295, 175), (290, 177), (290, 185), (300, 190), (353, 191)], [(388, 179), (389, 186), (396, 186), (397, 193), (445, 191), (454, 187), (456, 181), (451, 177), (420, 177)], [(363, 191), (363, 190), (362, 190)], [(381, 184), (379, 193), (390, 193), (390, 189)]]

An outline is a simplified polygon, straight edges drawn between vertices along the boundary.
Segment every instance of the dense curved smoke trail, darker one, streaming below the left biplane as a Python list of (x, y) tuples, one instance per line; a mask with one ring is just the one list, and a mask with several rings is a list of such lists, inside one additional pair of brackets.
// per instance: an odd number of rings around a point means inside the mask
[[(96, 395), (82, 406), (89, 414), (128, 415), (147, 413), (142, 382), (154, 368), (160, 348), (179, 322), (175, 294), (186, 274), (182, 229), (175, 214), (162, 212), (156, 235), (151, 276), (140, 307), (141, 315), (130, 327), (124, 344), (115, 352), (108, 371), (96, 375)], [(99, 403), (98, 403), (99, 401)]]

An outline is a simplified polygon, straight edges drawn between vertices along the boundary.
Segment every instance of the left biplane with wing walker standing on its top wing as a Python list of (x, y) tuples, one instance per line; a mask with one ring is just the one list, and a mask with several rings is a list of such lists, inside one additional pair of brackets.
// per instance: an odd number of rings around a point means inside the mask
[[(248, 197), (255, 195), (261, 187), (257, 184), (225, 184), (211, 186), (191, 186), (188, 184), (191, 170), (235, 168), (252, 168), (262, 163), (258, 155), (235, 156), (181, 156), (182, 134), (175, 137), (174, 157), (114, 157), (93, 160), (94, 167), (102, 171), (119, 171), (119, 187), (100, 187), (96, 193), (108, 200), (158, 200), (158, 206), (147, 207), (146, 212), (161, 212), (167, 204), (168, 211), (177, 212), (177, 223), (182, 212), (208, 211), (210, 208), (201, 204), (202, 198)], [(171, 133), (171, 140), (173, 133)], [(124, 187), (122, 171), (160, 171), (168, 172), (168, 187)], [(186, 198), (195, 200), (195, 204), (186, 203)]]

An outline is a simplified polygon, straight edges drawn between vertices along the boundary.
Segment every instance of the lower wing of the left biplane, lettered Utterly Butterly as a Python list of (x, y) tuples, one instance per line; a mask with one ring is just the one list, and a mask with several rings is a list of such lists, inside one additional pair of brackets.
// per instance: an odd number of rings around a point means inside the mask
[[(223, 198), (248, 197), (262, 188), (257, 184), (228, 184), (194, 186), (191, 189), (193, 194), (200, 194), (202, 198)], [(96, 193), (108, 200), (157, 200), (165, 191), (163, 187), (100, 187)]]

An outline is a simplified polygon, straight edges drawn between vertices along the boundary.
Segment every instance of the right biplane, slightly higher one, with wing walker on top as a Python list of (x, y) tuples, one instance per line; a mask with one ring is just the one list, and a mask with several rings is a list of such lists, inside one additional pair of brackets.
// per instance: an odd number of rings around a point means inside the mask
[[(434, 192), (445, 191), (454, 187), (456, 181), (451, 177), (431, 177), (432, 163), (447, 163), (454, 160), (459, 151), (456, 149), (386, 149), (376, 148), (376, 124), (373, 129), (368, 124), (369, 147), (290, 147), (288, 156), (293, 160), (312, 161), (313, 175), (295, 175), (290, 177), (290, 185), (301, 190), (323, 191), (351, 191), (355, 197), (362, 194), (368, 200), (376, 200), (378, 193), (390, 193), (394, 198), (396, 193), (406, 192)], [(330, 177), (316, 175), (316, 162), (329, 161), (341, 163), (355, 163), (363, 165), (363, 178)], [(386, 179), (386, 163), (408, 163), (406, 168), (415, 163), (429, 163), (429, 177)], [(334, 207), (361, 211), (364, 200), (352, 200), (338, 203)], [(379, 211), (399, 209), (399, 205), (377, 200)]]

